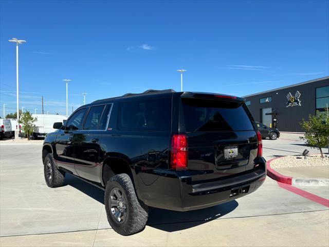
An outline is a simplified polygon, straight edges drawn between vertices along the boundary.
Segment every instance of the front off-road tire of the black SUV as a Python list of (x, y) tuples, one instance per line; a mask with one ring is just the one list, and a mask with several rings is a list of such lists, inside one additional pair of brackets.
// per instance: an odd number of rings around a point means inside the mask
[[(48, 153), (43, 162), (45, 181), (48, 187), (55, 188), (64, 184), (65, 172), (57, 169), (52, 153)], [(50, 178), (49, 178), (50, 174)]]

